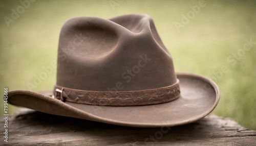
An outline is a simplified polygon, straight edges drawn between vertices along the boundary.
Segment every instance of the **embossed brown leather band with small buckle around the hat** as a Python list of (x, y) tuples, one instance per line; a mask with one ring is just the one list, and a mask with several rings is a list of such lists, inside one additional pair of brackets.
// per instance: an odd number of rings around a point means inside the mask
[(85, 91), (55, 85), (54, 98), (63, 102), (98, 106), (141, 106), (167, 103), (180, 97), (179, 80), (174, 85), (138, 91)]

